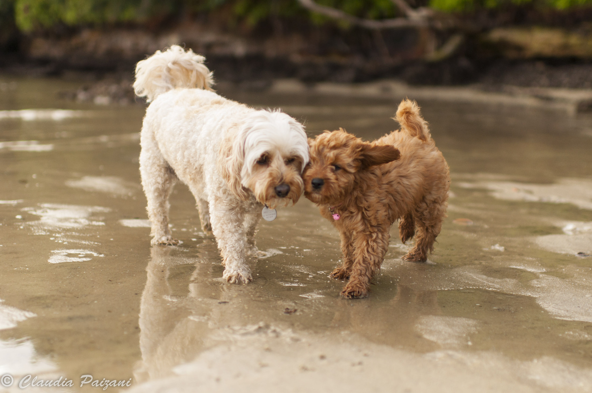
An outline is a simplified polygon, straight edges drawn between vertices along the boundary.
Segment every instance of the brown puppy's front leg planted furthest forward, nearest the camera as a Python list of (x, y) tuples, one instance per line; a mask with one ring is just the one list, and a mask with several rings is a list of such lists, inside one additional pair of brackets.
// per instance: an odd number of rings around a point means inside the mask
[(379, 232), (358, 233), (355, 236), (352, 274), (341, 292), (343, 296), (350, 299), (368, 295), (370, 281), (387, 254), (389, 236), (388, 227), (379, 229)]

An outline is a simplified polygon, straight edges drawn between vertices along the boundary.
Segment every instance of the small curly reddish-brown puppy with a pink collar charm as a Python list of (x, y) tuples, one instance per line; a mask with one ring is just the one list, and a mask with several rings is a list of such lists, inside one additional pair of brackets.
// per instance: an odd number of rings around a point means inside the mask
[(427, 123), (413, 101), (403, 100), (394, 118), (401, 129), (363, 142), (343, 129), (309, 139), (304, 195), (320, 207), (341, 238), (343, 264), (332, 272), (349, 278), (346, 298), (368, 295), (388, 249), (392, 223), (416, 245), (405, 261), (424, 262), (446, 217), (450, 175)]

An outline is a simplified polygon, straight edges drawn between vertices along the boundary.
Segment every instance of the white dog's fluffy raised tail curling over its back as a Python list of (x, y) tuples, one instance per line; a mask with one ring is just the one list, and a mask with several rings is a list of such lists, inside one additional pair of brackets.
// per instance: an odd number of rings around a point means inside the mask
[(150, 102), (177, 87), (212, 90), (214, 80), (204, 60), (205, 57), (178, 45), (164, 52), (157, 50), (148, 59), (138, 62), (134, 91)]

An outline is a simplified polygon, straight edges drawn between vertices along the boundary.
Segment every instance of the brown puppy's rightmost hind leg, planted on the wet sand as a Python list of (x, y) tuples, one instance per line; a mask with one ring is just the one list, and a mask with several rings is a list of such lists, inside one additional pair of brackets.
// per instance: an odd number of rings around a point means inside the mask
[(416, 218), (417, 234), (416, 244), (407, 255), (403, 256), (403, 261), (410, 262), (425, 262), (427, 261), (427, 254), (434, 249), (434, 242), (437, 235), (442, 230), (442, 220), (446, 216), (445, 207), (440, 203), (432, 203), (423, 210), (416, 210), (414, 217)]

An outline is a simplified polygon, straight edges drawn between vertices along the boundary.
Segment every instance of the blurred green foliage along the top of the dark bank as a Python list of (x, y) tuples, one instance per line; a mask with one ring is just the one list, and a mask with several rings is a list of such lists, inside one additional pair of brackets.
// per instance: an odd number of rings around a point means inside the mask
[[(391, 0), (316, 0), (361, 18), (392, 18), (399, 11)], [(536, 4), (568, 9), (592, 4), (592, 0), (430, 0), (430, 7), (446, 12), (466, 12), (477, 8), (501, 8), (508, 4)], [(50, 28), (56, 24), (108, 25), (117, 22), (143, 23), (181, 12), (215, 12), (226, 9), (229, 23), (256, 25), (275, 17), (300, 15), (317, 24), (330, 19), (309, 12), (297, 0), (0, 0), (0, 22), (14, 18), (21, 31)], [(14, 16), (12, 16), (14, 15)]]

